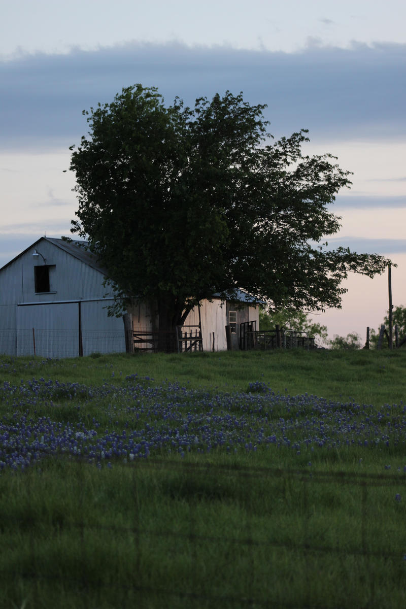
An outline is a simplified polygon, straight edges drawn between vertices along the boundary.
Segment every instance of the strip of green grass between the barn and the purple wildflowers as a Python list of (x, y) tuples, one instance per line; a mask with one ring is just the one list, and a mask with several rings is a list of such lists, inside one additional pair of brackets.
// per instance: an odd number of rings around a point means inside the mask
[[(3, 362), (3, 365), (1, 365)], [(188, 387), (245, 391), (263, 381), (275, 392), (352, 398), (380, 406), (405, 398), (406, 350), (269, 351), (192, 354), (126, 354), (44, 361), (40, 357), (0, 359), (0, 382), (52, 378), (86, 385), (121, 382), (127, 375), (148, 376), (156, 384), (177, 380)]]

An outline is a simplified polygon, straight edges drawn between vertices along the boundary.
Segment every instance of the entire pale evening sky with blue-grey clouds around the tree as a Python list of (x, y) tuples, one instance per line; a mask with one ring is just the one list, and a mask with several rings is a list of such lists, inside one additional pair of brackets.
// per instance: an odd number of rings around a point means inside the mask
[[(304, 152), (353, 172), (329, 245), (390, 258), (393, 303), (406, 306), (404, 23), (403, 0), (0, 2), (0, 267), (43, 234), (69, 234), (64, 171), (87, 133), (82, 110), (134, 83), (168, 104), (243, 91), (267, 104), (276, 138), (307, 128)], [(387, 276), (345, 287), (342, 308), (312, 320), (364, 337), (388, 309)]]

